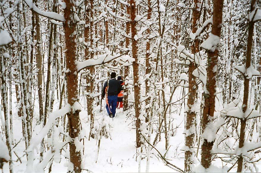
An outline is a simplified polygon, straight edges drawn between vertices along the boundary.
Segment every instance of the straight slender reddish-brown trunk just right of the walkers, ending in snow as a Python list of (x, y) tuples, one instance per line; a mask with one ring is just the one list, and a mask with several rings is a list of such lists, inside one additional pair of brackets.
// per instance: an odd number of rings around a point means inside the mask
[(131, 32), (132, 32), (132, 57), (135, 61), (132, 62), (133, 66), (133, 84), (134, 84), (134, 99), (135, 99), (135, 124), (136, 124), (136, 148), (141, 146), (141, 129), (140, 129), (140, 83), (139, 83), (139, 62), (138, 62), (138, 41), (134, 36), (137, 34), (137, 21), (136, 17), (136, 1), (130, 0), (131, 12)]

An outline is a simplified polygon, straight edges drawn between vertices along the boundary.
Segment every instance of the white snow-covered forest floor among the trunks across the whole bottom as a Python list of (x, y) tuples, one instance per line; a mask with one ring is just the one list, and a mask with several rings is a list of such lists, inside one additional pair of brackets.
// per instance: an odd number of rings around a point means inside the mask
[[(219, 91), (219, 88), (217, 88)], [(181, 87), (175, 92), (180, 93)], [(242, 93), (241, 93), (242, 94)], [(178, 100), (178, 97), (173, 98), (173, 101)], [(15, 100), (15, 99), (13, 99)], [(222, 100), (221, 97), (216, 98), (216, 116), (219, 114), (219, 112), (223, 109), (222, 104), (220, 103), (220, 100)], [(129, 116), (128, 111), (123, 111), (123, 109), (116, 109), (116, 116), (112, 119), (108, 116), (106, 109), (105, 109), (105, 103), (103, 103), (102, 110), (100, 112), (100, 107), (95, 107), (95, 127), (94, 129), (99, 129), (100, 124), (102, 123), (102, 120), (104, 121), (104, 124), (107, 125), (107, 130), (109, 134), (107, 135), (108, 138), (105, 138), (104, 136), (101, 138), (100, 147), (98, 149), (98, 139), (96, 138), (90, 138), (88, 140), (88, 135), (90, 132), (90, 123), (87, 111), (85, 111), (84, 107), (86, 107), (86, 103), (84, 99), (81, 101), (82, 111), (80, 112), (80, 120), (82, 125), (82, 131), (86, 135), (84, 137), (84, 158), (83, 158), (83, 168), (88, 169), (91, 172), (138, 172), (139, 162), (138, 162), (138, 154), (137, 154), (137, 148), (135, 147), (136, 142), (136, 129), (135, 129), (135, 122), (133, 119)], [(15, 102), (13, 102), (13, 105), (16, 105)], [(58, 109), (58, 102), (55, 102), (54, 104), (54, 110)], [(14, 106), (15, 109), (15, 106)], [(173, 107), (175, 109), (175, 107)], [(37, 101), (35, 104), (35, 114), (38, 114), (39, 108), (37, 105)], [(1, 116), (3, 115), (3, 112), (0, 112)], [(184, 169), (184, 105), (180, 107), (180, 112), (175, 111), (175, 113), (172, 114), (172, 117), (174, 119), (173, 125), (175, 129), (173, 130), (173, 136), (169, 137), (169, 143), (170, 147), (167, 151), (166, 158), (169, 159), (169, 161), (172, 164), (175, 164), (176, 166), (180, 167), (181, 169)], [(40, 131), (40, 125), (37, 124), (37, 121), (39, 121), (39, 117), (35, 116), (35, 119), (33, 120), (33, 137), (37, 135)], [(62, 125), (59, 125), (62, 127)], [(13, 158), (12, 160), (15, 161), (14, 163), (14, 172), (25, 172), (26, 170), (26, 164), (27, 159), (25, 155), (25, 143), (22, 139), (22, 123), (21, 118), (15, 115), (13, 117), (13, 127), (14, 127), (14, 144), (15, 148), (12, 150)], [(95, 132), (94, 132), (95, 133)], [(96, 132), (97, 133), (97, 132)], [(213, 134), (215, 135), (215, 134)], [(255, 134), (256, 135), (256, 134)], [(253, 136), (253, 138), (257, 138), (256, 136)], [(152, 139), (155, 138), (155, 132), (152, 134)], [(16, 145), (17, 144), (17, 145)], [(40, 145), (37, 147), (39, 148)], [(164, 133), (161, 134), (161, 141), (159, 141), (155, 148), (164, 155), (166, 153), (165, 150), (165, 142), (164, 142)], [(98, 153), (99, 150), (99, 153)], [(39, 155), (38, 149), (35, 151), (35, 155)], [(69, 146), (67, 147), (67, 153), (66, 150), (63, 150), (61, 152), (61, 161), (60, 163), (56, 163), (53, 161), (52, 164), (52, 172), (67, 172), (69, 165), (68, 162), (68, 156), (69, 156)], [(150, 161), (150, 172), (176, 172), (175, 170), (171, 169), (169, 166), (163, 163), (163, 161), (160, 159), (159, 153), (154, 148), (152, 149), (151, 153), (151, 161)], [(195, 149), (197, 151), (197, 148)], [(199, 165), (200, 163), (200, 153), (199, 150), (198, 153), (198, 159), (195, 158), (194, 163)], [(141, 172), (145, 172), (146, 169), (146, 153), (143, 153), (142, 161), (141, 161)], [(19, 159), (18, 159), (19, 157)], [(36, 164), (36, 170), (37, 170), (37, 163), (39, 162), (39, 158), (35, 158), (34, 163)], [(59, 159), (58, 159), (59, 162)], [(214, 159), (213, 164), (216, 166), (213, 166), (212, 168), (209, 168), (209, 172), (225, 172), (231, 164), (228, 164), (222, 169), (222, 163), (219, 159)], [(48, 165), (45, 168), (45, 172), (48, 172), (49, 169)], [(261, 164), (257, 164), (257, 168), (261, 169)], [(205, 170), (198, 166), (196, 169), (194, 169), (196, 172), (204, 172)], [(8, 172), (9, 167), (8, 164), (4, 164), (3, 166), (3, 172)], [(236, 172), (236, 168), (231, 170), (232, 172)], [(87, 172), (83, 170), (83, 172)]]

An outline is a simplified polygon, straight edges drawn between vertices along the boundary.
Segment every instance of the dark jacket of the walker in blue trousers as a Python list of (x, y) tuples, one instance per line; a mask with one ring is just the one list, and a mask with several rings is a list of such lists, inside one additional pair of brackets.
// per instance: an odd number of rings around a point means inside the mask
[[(105, 96), (105, 89), (107, 87), (107, 81), (103, 85), (102, 98)], [(108, 96), (118, 95), (121, 92), (121, 85), (115, 78), (109, 80)]]

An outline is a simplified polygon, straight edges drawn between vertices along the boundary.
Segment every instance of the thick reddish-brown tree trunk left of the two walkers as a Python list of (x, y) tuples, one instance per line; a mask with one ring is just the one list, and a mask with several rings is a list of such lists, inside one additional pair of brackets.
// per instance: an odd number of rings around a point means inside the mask
[(69, 69), (67, 73), (67, 95), (68, 104), (72, 106), (72, 109), (67, 114), (68, 116), (68, 127), (69, 136), (72, 141), (69, 143), (70, 146), (70, 161), (74, 166), (75, 172), (81, 172), (81, 153), (76, 151), (74, 140), (79, 137), (80, 132), (80, 110), (73, 109), (75, 102), (79, 101), (78, 97), (78, 72), (75, 64), (76, 60), (76, 22), (74, 20), (74, 1), (64, 0), (66, 7), (64, 8), (64, 33), (65, 33), (65, 55), (66, 55), (66, 68)]

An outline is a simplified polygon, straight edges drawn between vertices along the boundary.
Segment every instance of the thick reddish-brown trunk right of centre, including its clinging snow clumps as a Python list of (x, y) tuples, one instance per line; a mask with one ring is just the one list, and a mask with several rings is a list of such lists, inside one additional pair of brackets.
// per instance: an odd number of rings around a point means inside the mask
[[(204, 87), (204, 108), (202, 115), (202, 152), (201, 164), (207, 169), (211, 164), (211, 149), (215, 140), (212, 133), (216, 98), (216, 75), (219, 55), (219, 43), (222, 28), (223, 0), (213, 1), (213, 24), (210, 37), (201, 44), (208, 51), (207, 81)], [(206, 46), (208, 45), (208, 46)]]

